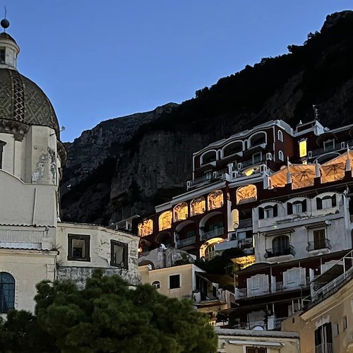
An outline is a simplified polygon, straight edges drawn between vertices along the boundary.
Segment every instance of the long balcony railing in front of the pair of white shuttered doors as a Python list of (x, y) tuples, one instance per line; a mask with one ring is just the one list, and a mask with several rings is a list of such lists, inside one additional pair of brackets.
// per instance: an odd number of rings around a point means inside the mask
[(259, 297), (270, 293), (286, 292), (299, 288), (302, 289), (309, 287), (309, 285), (310, 277), (304, 277), (297, 282), (275, 282), (273, 284), (268, 284), (257, 288), (236, 288), (235, 296), (236, 298)]

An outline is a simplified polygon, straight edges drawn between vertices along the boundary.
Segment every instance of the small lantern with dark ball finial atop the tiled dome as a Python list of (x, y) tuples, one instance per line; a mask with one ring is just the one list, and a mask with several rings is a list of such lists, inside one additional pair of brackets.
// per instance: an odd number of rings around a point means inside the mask
[(20, 48), (13, 37), (5, 32), (10, 25), (8, 20), (4, 18), (0, 24), (4, 28), (4, 32), (0, 33), (0, 68), (17, 70), (17, 56)]

